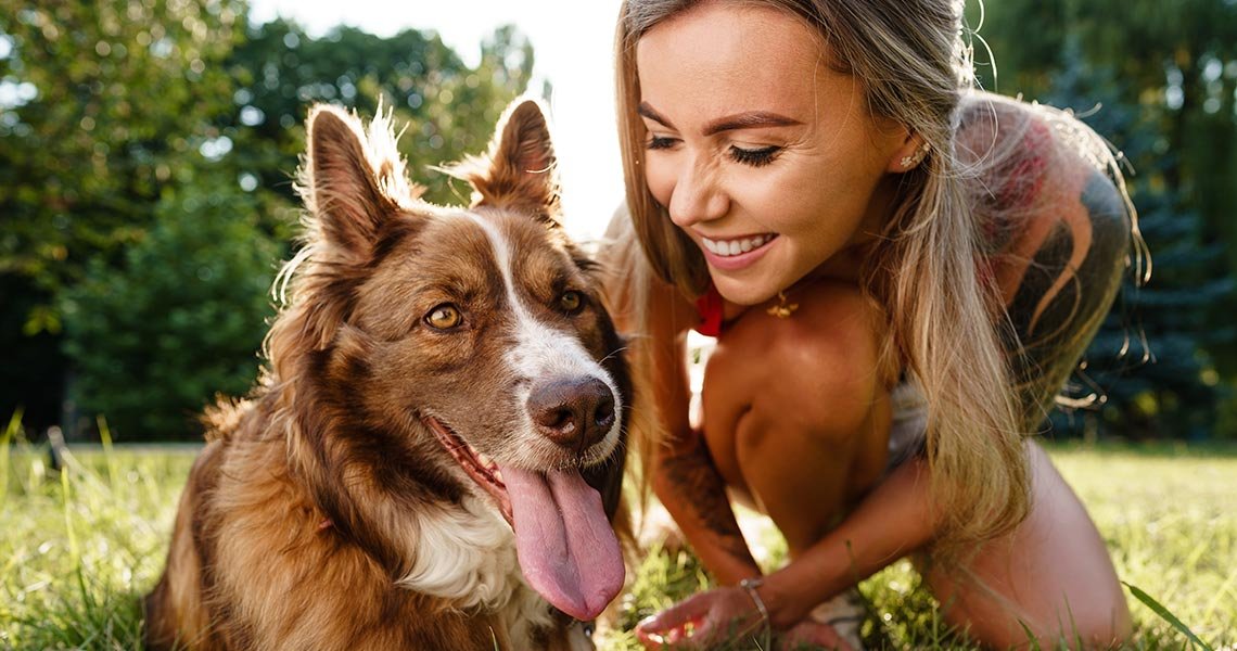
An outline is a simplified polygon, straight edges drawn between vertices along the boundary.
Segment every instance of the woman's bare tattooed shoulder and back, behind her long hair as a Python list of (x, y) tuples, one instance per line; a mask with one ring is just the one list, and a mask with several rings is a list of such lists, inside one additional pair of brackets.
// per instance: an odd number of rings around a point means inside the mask
[(975, 94), (957, 142), (1016, 381), (1027, 405), (1044, 405), (1121, 286), (1138, 243), (1133, 205), (1112, 147), (1069, 111)]

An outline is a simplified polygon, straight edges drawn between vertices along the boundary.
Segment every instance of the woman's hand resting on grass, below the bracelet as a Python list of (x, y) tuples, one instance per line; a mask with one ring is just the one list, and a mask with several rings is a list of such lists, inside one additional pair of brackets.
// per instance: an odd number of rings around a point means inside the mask
[(694, 594), (636, 626), (644, 649), (713, 649), (727, 640), (753, 640), (768, 649), (768, 621), (742, 588), (714, 588)]

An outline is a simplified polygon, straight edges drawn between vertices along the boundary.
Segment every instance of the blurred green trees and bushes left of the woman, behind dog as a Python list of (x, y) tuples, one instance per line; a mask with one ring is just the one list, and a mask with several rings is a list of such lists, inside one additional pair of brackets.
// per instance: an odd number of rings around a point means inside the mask
[[(432, 32), (310, 37), (240, 0), (0, 0), (0, 413), (31, 431), (197, 438), (242, 395), (297, 222), (309, 104), (379, 110), (427, 197), (430, 163), (486, 144), (532, 46), (466, 66)], [(463, 192), (463, 191), (461, 191)]]

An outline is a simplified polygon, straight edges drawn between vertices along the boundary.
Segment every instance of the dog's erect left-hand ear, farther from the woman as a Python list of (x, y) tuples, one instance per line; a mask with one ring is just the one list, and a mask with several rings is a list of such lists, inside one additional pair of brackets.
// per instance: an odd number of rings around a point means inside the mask
[(319, 234), (341, 252), (362, 256), (395, 202), (379, 186), (360, 120), (324, 104), (309, 110), (301, 194)]

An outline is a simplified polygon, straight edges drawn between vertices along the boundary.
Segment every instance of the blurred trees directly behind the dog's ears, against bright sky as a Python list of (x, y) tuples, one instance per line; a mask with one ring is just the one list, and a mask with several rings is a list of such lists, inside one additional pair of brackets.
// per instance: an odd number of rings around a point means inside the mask
[(240, 173), (294, 200), (287, 181), (304, 147), (309, 104), (336, 103), (366, 118), (381, 108), (404, 129), (401, 153), (426, 198), (458, 203), (448, 177), (430, 166), (485, 149), (532, 74), (532, 46), (513, 28), (497, 30), (481, 48), (469, 68), (432, 32), (380, 38), (338, 27), (310, 38), (283, 20), (255, 26), (226, 62), (235, 110), (219, 118), (218, 132), (235, 141)]

